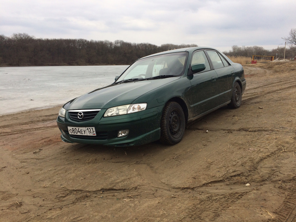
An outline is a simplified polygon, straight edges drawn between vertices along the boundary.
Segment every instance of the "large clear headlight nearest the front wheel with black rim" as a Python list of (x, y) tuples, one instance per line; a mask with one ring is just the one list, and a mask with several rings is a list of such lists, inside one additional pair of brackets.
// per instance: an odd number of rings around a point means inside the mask
[(147, 107), (147, 103), (137, 103), (137, 104), (128, 104), (128, 105), (121, 105), (111, 107), (106, 110), (104, 117), (109, 116), (119, 116), (128, 113), (136, 113), (142, 110), (145, 110)]

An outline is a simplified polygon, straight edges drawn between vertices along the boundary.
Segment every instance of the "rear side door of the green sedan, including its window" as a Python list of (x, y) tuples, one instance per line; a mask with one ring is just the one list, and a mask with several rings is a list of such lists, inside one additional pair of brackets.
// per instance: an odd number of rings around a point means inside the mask
[(219, 85), (219, 103), (224, 104), (229, 101), (232, 93), (232, 83), (234, 80), (234, 68), (223, 58), (223, 56), (214, 50), (207, 50), (212, 62), (212, 67), (217, 73), (216, 83)]

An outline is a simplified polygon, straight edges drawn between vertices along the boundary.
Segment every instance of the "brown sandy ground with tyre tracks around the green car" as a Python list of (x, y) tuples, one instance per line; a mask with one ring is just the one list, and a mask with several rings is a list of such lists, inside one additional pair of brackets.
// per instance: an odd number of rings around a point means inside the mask
[(175, 146), (64, 143), (60, 107), (1, 116), (0, 220), (295, 222), (296, 62), (244, 68), (241, 107)]

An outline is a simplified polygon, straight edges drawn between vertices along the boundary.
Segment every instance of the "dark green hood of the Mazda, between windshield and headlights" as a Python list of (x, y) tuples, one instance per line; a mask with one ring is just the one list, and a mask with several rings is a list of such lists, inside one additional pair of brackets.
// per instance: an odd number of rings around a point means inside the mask
[(143, 94), (178, 78), (180, 78), (180, 76), (157, 80), (142, 80), (129, 83), (111, 84), (104, 88), (99, 88), (77, 97), (65, 104), (64, 108), (67, 110), (108, 109), (113, 106), (131, 104), (135, 99)]

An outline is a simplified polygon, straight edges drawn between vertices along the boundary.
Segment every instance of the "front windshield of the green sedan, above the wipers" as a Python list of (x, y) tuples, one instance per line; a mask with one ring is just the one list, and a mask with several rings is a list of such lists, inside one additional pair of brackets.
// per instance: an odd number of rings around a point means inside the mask
[(176, 52), (138, 60), (126, 69), (115, 83), (181, 76), (186, 58), (187, 52)]

